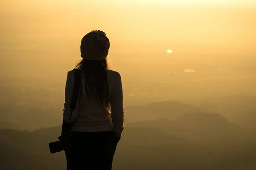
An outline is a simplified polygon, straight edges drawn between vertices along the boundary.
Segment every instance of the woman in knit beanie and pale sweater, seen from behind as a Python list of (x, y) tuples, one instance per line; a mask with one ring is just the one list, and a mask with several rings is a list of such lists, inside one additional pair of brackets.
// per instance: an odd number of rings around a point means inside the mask
[[(76, 109), (70, 108), (74, 70), (67, 73), (62, 134), (71, 122), (65, 149), (67, 170), (111, 170), (116, 145), (124, 129), (122, 81), (109, 69), (110, 42), (100, 30), (81, 40), (81, 86)], [(72, 112), (72, 114), (71, 114)]]

